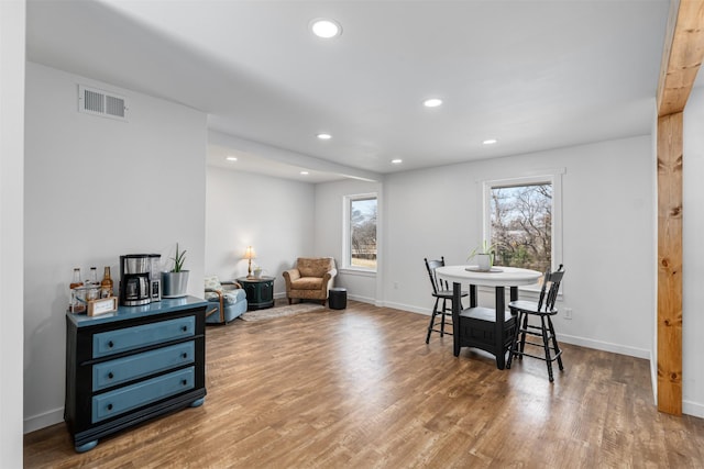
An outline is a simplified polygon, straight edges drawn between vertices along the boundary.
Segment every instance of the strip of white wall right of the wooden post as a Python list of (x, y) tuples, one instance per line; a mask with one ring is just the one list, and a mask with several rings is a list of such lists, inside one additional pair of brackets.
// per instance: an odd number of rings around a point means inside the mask
[(704, 417), (704, 88), (694, 88), (684, 109), (682, 174), (682, 411)]

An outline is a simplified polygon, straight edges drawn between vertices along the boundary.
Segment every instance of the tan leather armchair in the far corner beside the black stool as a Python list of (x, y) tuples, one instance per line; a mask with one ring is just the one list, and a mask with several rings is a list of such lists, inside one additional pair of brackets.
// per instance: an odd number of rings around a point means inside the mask
[(294, 299), (328, 301), (328, 292), (338, 275), (332, 257), (299, 257), (296, 267), (284, 272), (288, 304)]

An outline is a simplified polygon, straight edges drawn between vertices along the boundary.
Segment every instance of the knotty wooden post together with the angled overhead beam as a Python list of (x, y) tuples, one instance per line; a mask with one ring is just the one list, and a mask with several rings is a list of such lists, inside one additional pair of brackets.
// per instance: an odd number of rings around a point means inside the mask
[(682, 111), (704, 60), (704, 1), (671, 0), (658, 83), (658, 410), (682, 415)]

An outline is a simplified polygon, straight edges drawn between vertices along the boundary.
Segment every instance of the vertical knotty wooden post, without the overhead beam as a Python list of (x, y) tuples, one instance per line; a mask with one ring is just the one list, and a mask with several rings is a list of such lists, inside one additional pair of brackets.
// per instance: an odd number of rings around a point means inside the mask
[(682, 414), (682, 112), (658, 119), (658, 410)]

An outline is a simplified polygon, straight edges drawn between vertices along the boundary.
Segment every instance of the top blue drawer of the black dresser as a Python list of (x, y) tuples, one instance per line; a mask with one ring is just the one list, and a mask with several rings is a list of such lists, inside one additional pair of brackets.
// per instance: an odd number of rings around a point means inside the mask
[(191, 337), (195, 333), (196, 317), (194, 316), (102, 332), (92, 336), (92, 358), (134, 350), (135, 348), (177, 338)]

